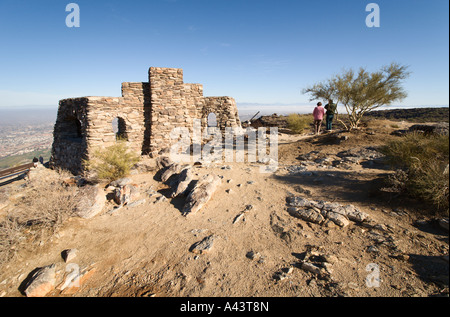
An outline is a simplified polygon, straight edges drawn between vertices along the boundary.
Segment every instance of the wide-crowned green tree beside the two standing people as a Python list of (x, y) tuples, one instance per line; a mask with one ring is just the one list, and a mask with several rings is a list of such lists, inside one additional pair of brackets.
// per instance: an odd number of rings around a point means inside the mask
[(349, 126), (341, 122), (347, 130), (357, 129), (362, 117), (381, 106), (389, 106), (406, 98), (402, 82), (410, 73), (408, 67), (392, 63), (379, 71), (368, 72), (360, 68), (358, 72), (350, 69), (342, 74), (305, 88), (302, 92), (310, 95), (310, 100), (333, 99), (341, 103), (348, 114)]

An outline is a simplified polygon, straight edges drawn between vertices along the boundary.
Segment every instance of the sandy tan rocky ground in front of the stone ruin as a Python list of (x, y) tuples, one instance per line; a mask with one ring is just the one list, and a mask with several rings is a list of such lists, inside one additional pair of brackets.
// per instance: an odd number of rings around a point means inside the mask
[[(448, 296), (448, 220), (380, 191), (392, 171), (377, 147), (410, 124), (377, 124), (281, 134), (274, 173), (258, 162), (201, 164), (174, 183), (161, 179), (170, 162), (160, 162), (100, 186), (100, 210), (71, 218), (2, 267), (0, 295)], [(197, 200), (172, 198), (190, 177)], [(0, 215), (15, 203), (8, 197)]]

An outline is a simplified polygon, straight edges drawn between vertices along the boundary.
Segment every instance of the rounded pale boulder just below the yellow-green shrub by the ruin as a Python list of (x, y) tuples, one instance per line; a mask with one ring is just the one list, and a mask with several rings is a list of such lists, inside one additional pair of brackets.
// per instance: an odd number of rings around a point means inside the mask
[(106, 195), (99, 185), (86, 185), (77, 194), (75, 214), (84, 219), (92, 218), (103, 210), (105, 203)]

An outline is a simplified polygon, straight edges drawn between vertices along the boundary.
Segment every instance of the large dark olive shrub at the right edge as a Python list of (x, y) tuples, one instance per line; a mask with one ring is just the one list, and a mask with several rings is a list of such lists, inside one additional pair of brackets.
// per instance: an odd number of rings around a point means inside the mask
[(401, 182), (407, 194), (429, 202), (448, 214), (448, 136), (409, 133), (391, 141), (381, 151), (392, 166), (406, 173)]

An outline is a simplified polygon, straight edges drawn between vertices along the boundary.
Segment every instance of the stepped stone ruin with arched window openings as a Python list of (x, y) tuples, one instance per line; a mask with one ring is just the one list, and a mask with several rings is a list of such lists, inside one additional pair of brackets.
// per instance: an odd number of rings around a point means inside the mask
[(50, 166), (80, 174), (91, 149), (113, 145), (118, 138), (140, 155), (154, 155), (176, 141), (170, 139), (172, 129), (192, 131), (194, 119), (206, 128), (211, 113), (222, 131), (241, 127), (233, 98), (204, 97), (203, 85), (183, 82), (182, 69), (151, 67), (149, 82), (122, 83), (122, 97), (61, 100)]

